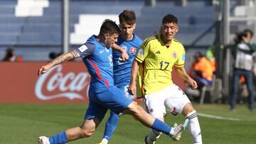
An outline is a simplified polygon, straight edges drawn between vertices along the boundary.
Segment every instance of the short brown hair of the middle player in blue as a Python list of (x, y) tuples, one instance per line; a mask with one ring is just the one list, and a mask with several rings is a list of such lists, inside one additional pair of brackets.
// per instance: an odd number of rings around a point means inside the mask
[(119, 14), (119, 23), (127, 23), (132, 25), (136, 23), (136, 16), (134, 11), (124, 10)]

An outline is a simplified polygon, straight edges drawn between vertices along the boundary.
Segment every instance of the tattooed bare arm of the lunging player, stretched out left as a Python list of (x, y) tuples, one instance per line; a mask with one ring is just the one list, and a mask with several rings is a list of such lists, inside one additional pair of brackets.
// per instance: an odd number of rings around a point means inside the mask
[(59, 65), (59, 64), (65, 62), (65, 61), (72, 60), (72, 59), (77, 58), (77, 57), (80, 57), (80, 54), (76, 50), (64, 53), (63, 55), (60, 55), (60, 56), (56, 57), (54, 60), (52, 60), (48, 64), (43, 65), (38, 70), (38, 75), (48, 72), (48, 70), (50, 70), (50, 68), (54, 67), (55, 65)]

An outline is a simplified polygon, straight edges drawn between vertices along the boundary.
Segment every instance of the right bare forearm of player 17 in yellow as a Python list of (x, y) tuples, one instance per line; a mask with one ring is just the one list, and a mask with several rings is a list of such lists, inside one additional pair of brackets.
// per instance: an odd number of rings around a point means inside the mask
[(186, 70), (184, 67), (174, 67), (175, 72), (178, 74), (179, 77), (184, 79), (188, 84), (191, 86), (192, 89), (196, 89), (198, 87), (196, 81), (189, 77), (189, 75), (186, 73)]

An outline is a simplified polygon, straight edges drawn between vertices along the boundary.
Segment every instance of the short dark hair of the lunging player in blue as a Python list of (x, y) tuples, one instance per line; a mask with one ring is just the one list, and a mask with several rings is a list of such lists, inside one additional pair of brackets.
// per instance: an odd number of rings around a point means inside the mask
[(100, 27), (100, 35), (104, 35), (105, 33), (108, 33), (110, 35), (114, 33), (119, 34), (120, 32), (121, 31), (117, 23), (110, 19), (105, 19), (105, 21), (103, 21), (102, 23), (102, 26)]

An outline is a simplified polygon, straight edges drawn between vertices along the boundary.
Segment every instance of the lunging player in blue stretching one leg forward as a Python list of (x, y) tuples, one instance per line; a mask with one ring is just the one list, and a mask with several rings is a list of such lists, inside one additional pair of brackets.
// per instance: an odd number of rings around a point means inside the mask
[(146, 113), (142, 106), (128, 99), (122, 90), (114, 87), (112, 45), (117, 42), (119, 33), (119, 26), (107, 19), (102, 23), (99, 35), (92, 35), (80, 48), (56, 57), (38, 70), (38, 74), (44, 74), (55, 65), (81, 57), (91, 77), (89, 106), (82, 125), (69, 128), (50, 138), (40, 136), (38, 138), (40, 144), (68, 143), (68, 141), (90, 137), (104, 118), (107, 109), (117, 114), (132, 115), (144, 126), (161, 131), (171, 138), (176, 138), (183, 131), (183, 124), (175, 127), (167, 125)]

